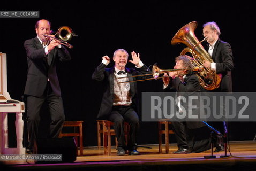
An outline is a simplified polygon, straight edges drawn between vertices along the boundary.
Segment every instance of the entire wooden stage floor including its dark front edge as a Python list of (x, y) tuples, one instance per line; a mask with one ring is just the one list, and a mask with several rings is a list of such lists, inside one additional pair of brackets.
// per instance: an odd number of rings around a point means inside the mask
[[(207, 170), (214, 167), (217, 167), (218, 170), (221, 170), (220, 168), (224, 167), (226, 168), (224, 170), (234, 170), (234, 167), (238, 167), (237, 165), (239, 165), (239, 167), (249, 167), (246, 170), (256, 170), (256, 141), (238, 141), (229, 142), (229, 144), (231, 156), (227, 158), (220, 158), (221, 155), (224, 155), (224, 151), (222, 151), (214, 153), (216, 159), (204, 158), (204, 156), (210, 155), (210, 150), (201, 153), (173, 154), (172, 152), (177, 150), (177, 144), (169, 145), (169, 154), (165, 153), (165, 146), (163, 144), (163, 152), (160, 154), (158, 145), (155, 144), (143, 145), (152, 147), (152, 149), (139, 147), (137, 150), (140, 152), (140, 155), (138, 156), (129, 156), (127, 154), (125, 156), (116, 156), (116, 149), (114, 146), (111, 149), (111, 156), (104, 155), (102, 148), (97, 149), (97, 147), (84, 147), (84, 156), (78, 156), (77, 160), (73, 163), (27, 164), (25, 161), (5, 161), (5, 164), (12, 168), (15, 167), (17, 170), (36, 170), (37, 168), (41, 168), (47, 169), (48, 171), (51, 170), (52, 167), (54, 167), (54, 170), (58, 170), (58, 167), (59, 170), (62, 170), (61, 167), (65, 167), (65, 170), (76, 170), (78, 168), (78, 170), (82, 170), (82, 168), (94, 170), (95, 168), (100, 169), (100, 167), (104, 169), (117, 167), (114, 170), (126, 170), (128, 168), (134, 169), (135, 167), (141, 166), (144, 166), (143, 168), (151, 168), (152, 170), (154, 170), (153, 168), (156, 166), (158, 170), (162, 170), (160, 169), (160, 166), (161, 168), (163, 166), (164, 168), (168, 166), (168, 169), (175, 168), (175, 170), (179, 170), (179, 167), (182, 166), (184, 168), (185, 165), (187, 165), (187, 170), (190, 170), (195, 166), (197, 166), (196, 170), (201, 170), (198, 166), (204, 166)], [(230, 155), (229, 151), (227, 154)]]

